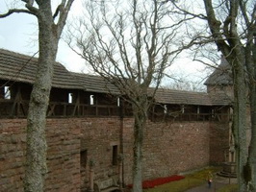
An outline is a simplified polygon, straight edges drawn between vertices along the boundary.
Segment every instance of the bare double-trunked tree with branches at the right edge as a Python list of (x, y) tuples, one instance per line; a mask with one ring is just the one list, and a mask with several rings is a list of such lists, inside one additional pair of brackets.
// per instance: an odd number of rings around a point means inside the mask
[[(201, 1), (198, 1), (201, 2)], [(211, 36), (196, 36), (197, 43), (215, 42), (230, 63), (234, 84), (233, 133), (237, 153), (239, 191), (256, 190), (256, 3), (253, 0), (203, 0), (204, 13), (181, 9), (207, 22)], [(205, 33), (205, 34), (207, 34)], [(248, 88), (247, 88), (248, 85)], [(251, 136), (246, 138), (247, 92)], [(250, 140), (249, 148), (246, 140)]]

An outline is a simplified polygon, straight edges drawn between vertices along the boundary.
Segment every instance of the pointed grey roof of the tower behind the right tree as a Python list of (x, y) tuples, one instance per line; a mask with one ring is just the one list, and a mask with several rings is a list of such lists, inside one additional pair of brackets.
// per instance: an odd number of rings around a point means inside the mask
[(233, 84), (231, 66), (224, 57), (221, 58), (221, 62), (218, 68), (210, 75), (210, 77), (204, 83), (206, 85), (216, 85), (216, 84)]

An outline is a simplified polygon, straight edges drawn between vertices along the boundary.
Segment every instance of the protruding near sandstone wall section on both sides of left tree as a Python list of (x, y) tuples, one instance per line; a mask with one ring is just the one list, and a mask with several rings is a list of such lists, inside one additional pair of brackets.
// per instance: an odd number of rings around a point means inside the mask
[[(70, 126), (72, 125), (72, 126)], [(23, 191), (26, 120), (0, 120), (0, 191)], [(45, 191), (80, 191), (80, 125), (76, 119), (47, 120), (48, 175)]]

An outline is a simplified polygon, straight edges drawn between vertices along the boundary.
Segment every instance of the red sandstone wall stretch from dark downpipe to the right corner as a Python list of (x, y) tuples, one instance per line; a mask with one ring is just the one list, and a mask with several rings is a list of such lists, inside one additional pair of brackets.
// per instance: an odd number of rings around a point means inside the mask
[[(132, 124), (125, 123), (125, 183), (132, 180), (132, 130)], [(208, 122), (148, 122), (143, 144), (143, 180), (209, 165), (209, 141)]]

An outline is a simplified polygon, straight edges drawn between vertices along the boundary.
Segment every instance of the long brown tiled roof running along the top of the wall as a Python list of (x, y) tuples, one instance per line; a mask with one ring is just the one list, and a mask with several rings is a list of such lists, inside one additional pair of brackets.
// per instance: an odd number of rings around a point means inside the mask
[[(0, 79), (34, 84), (38, 59), (0, 49)], [(82, 89), (90, 92), (118, 94), (114, 84), (107, 83), (102, 77), (67, 71), (64, 66), (54, 63), (53, 87)], [(149, 93), (152, 89), (149, 89)], [(224, 94), (209, 95), (203, 92), (158, 89), (155, 101), (162, 104), (178, 105), (230, 105)]]

